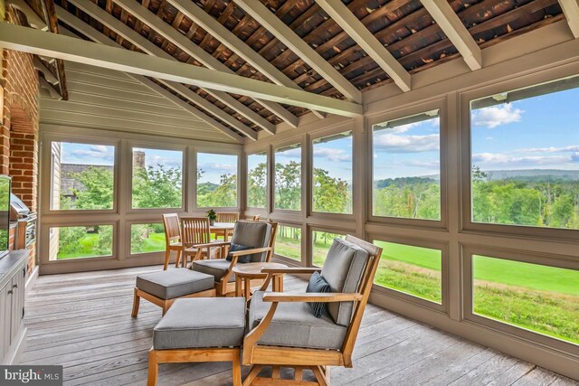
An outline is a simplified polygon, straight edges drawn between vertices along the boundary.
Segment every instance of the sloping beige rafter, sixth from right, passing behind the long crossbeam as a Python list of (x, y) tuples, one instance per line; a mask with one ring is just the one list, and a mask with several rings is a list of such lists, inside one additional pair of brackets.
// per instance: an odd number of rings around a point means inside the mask
[[(115, 0), (115, 3), (119, 4), (121, 7), (125, 8), (128, 12), (133, 14), (142, 23), (147, 24), (151, 31), (163, 36), (168, 42), (172, 42), (181, 50), (186, 52), (188, 55), (195, 58), (197, 61), (212, 70), (229, 72), (233, 74), (228, 67), (224, 66), (221, 61), (215, 59), (209, 52), (204, 51), (201, 47), (191, 42), (183, 34), (178, 33), (175, 28), (171, 27), (161, 20), (157, 15), (151, 13), (142, 5), (139, 5), (133, 0)], [(149, 52), (151, 53), (151, 52)], [(157, 55), (158, 56), (158, 55)], [(226, 71), (226, 70), (227, 71)], [(237, 99), (234, 99), (231, 95), (223, 91), (211, 91), (209, 93), (215, 98), (219, 99), (223, 104), (233, 108), (238, 113), (242, 114), (243, 117), (248, 118), (253, 123), (263, 128), (270, 134), (275, 134), (275, 125), (272, 124), (267, 119), (261, 117), (258, 113), (253, 111), (251, 108), (243, 105)], [(279, 106), (279, 105), (278, 105)], [(279, 106), (280, 108), (283, 108)]]

